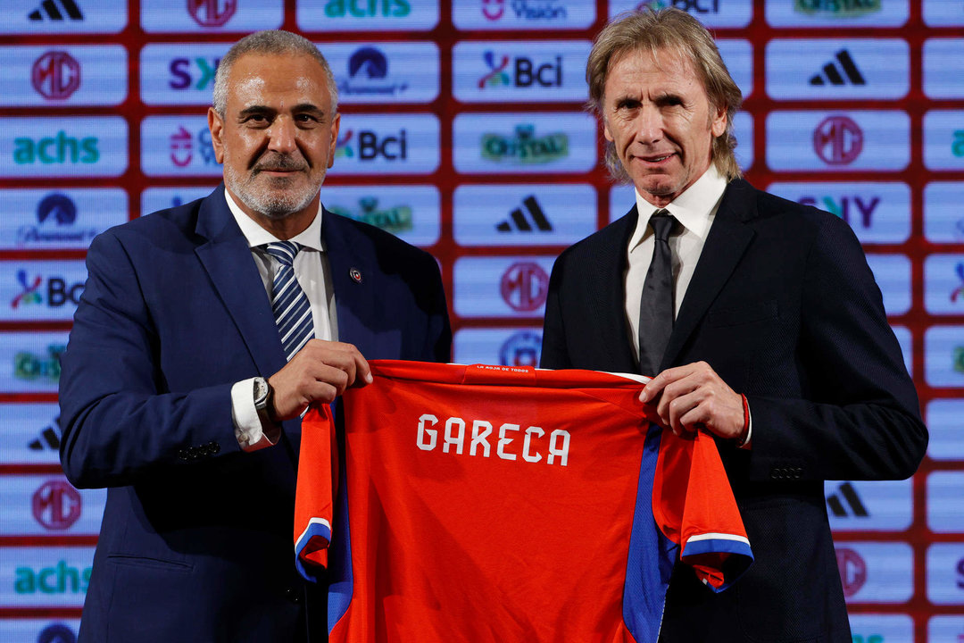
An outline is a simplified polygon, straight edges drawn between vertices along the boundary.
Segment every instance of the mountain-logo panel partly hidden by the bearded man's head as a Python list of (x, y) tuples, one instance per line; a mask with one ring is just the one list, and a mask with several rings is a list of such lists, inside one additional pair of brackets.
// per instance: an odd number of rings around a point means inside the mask
[(338, 103), (428, 103), (439, 97), (439, 47), (434, 42), (323, 42), (335, 74)]

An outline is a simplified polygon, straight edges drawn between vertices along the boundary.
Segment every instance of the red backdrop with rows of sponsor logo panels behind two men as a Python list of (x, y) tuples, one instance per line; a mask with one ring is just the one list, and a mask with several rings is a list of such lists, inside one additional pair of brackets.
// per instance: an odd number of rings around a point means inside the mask
[[(913, 479), (826, 484), (854, 641), (964, 642), (964, 0), (643, 4), (716, 33), (746, 176), (855, 230), (921, 394)], [(636, 6), (5, 2), (0, 639), (74, 640), (105, 499), (57, 458), (85, 251), (218, 183), (204, 114), (232, 41), (281, 27), (319, 44), (343, 114), (325, 205), (439, 258), (455, 361), (535, 364), (552, 259), (633, 203), (581, 104), (593, 35)]]

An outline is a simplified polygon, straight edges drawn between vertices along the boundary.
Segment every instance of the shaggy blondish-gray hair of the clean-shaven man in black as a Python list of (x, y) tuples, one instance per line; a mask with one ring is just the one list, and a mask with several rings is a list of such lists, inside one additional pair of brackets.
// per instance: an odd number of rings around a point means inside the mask
[[(653, 9), (622, 13), (603, 28), (593, 43), (586, 63), (586, 82), (589, 84), (588, 109), (595, 111), (603, 120), (603, 94), (610, 64), (634, 51), (656, 52), (668, 49), (688, 60), (703, 82), (715, 113), (726, 109), (726, 131), (713, 138), (711, 158), (720, 174), (727, 180), (741, 174), (736, 163), (736, 135), (733, 120), (743, 101), (743, 94), (736, 86), (730, 71), (723, 64), (716, 42), (707, 28), (689, 13), (679, 9)], [(605, 163), (613, 178), (629, 181), (629, 174), (620, 163), (616, 147), (606, 142)]]

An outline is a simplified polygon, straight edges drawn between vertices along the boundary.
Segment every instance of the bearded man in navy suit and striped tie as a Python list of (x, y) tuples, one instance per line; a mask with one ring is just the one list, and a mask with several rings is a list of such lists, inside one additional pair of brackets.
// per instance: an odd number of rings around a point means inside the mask
[(301, 415), (451, 339), (435, 260), (320, 205), (336, 100), (308, 40), (240, 40), (208, 112), (224, 185), (91, 245), (60, 398), (68, 479), (108, 489), (80, 641), (325, 640)]

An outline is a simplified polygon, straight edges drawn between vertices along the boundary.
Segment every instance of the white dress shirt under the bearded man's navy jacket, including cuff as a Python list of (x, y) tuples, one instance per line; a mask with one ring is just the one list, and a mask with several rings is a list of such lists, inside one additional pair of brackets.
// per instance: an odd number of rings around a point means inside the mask
[[(278, 268), (278, 259), (261, 248), (265, 244), (281, 241), (268, 230), (261, 228), (254, 220), (238, 207), (225, 190), (228, 209), (248, 240), (254, 265), (261, 276), (264, 290), (269, 301)], [(300, 234), (288, 241), (301, 244), (302, 249), (295, 256), (293, 268), (295, 279), (308, 296), (311, 317), (314, 322), (314, 336), (317, 339), (336, 341), (338, 338), (337, 316), (335, 315), (335, 289), (332, 286), (332, 271), (325, 255), (325, 244), (321, 238), (322, 211), (319, 207), (311, 224)], [(262, 373), (263, 377), (274, 373)], [(268, 436), (261, 428), (261, 421), (254, 410), (254, 378), (236, 383), (231, 387), (231, 413), (234, 419), (234, 435), (245, 451), (256, 451), (278, 442), (279, 435)]]

